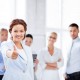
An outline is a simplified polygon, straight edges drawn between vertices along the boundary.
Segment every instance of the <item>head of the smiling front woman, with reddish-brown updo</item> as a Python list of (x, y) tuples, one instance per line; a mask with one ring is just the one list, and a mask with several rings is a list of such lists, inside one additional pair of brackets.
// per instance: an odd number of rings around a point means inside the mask
[(27, 30), (25, 26), (27, 26), (27, 24), (23, 20), (16, 19), (12, 21), (9, 32), (11, 33), (11, 37), (13, 41), (15, 39), (18, 41), (18, 39), (25, 38), (25, 34)]

